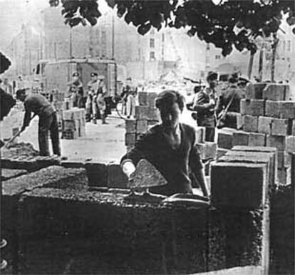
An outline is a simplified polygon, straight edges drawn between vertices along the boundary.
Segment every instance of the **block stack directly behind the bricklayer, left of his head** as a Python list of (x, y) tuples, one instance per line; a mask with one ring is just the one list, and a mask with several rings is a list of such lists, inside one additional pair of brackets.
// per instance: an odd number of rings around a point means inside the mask
[(128, 150), (141, 134), (160, 121), (159, 111), (155, 108), (156, 97), (157, 93), (138, 93), (139, 105), (135, 107), (135, 119), (126, 120), (125, 123), (125, 145)]

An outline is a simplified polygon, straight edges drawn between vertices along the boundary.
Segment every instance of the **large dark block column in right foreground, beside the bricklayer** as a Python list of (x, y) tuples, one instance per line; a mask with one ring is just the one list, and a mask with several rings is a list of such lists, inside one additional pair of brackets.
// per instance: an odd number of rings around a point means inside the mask
[[(274, 186), (275, 172), (276, 148), (272, 147), (233, 147), (212, 163), (211, 202), (215, 209), (210, 212), (209, 221), (209, 243), (215, 239), (214, 246), (209, 246), (212, 259), (215, 259), (215, 247), (219, 247), (219, 251), (224, 249), (222, 261), (227, 267), (234, 265), (232, 259), (239, 259), (240, 263), (247, 265), (251, 262), (249, 255), (252, 249), (259, 247), (254, 265), (262, 266), (262, 274), (268, 274), (269, 195)], [(249, 222), (250, 217), (258, 218), (254, 227)]]

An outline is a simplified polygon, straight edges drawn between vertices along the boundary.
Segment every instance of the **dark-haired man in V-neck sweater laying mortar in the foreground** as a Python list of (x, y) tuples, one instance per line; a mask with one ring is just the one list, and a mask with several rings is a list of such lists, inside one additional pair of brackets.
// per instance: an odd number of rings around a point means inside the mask
[(141, 159), (148, 160), (165, 177), (168, 184), (151, 187), (152, 192), (171, 195), (192, 193), (190, 170), (195, 174), (203, 194), (208, 190), (205, 173), (197, 151), (195, 129), (180, 123), (184, 98), (174, 90), (165, 90), (156, 98), (162, 123), (141, 135), (135, 146), (121, 160), (123, 172), (129, 178)]

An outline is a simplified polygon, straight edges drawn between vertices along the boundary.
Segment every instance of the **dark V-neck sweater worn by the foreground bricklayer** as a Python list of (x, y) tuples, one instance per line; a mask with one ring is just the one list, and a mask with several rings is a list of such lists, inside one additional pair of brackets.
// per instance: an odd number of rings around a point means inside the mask
[(121, 165), (127, 160), (137, 165), (141, 159), (146, 159), (168, 182), (165, 186), (150, 188), (151, 192), (166, 195), (191, 193), (190, 170), (201, 170), (202, 162), (195, 147), (195, 129), (180, 123), (180, 133), (180, 146), (174, 149), (167, 140), (162, 125), (155, 125), (140, 135), (135, 147), (122, 158)]

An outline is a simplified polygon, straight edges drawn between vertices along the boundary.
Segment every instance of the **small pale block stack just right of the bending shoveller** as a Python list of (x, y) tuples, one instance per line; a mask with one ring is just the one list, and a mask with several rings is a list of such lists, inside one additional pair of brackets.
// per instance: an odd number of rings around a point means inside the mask
[(86, 135), (85, 110), (71, 108), (63, 111), (62, 138), (73, 140)]

